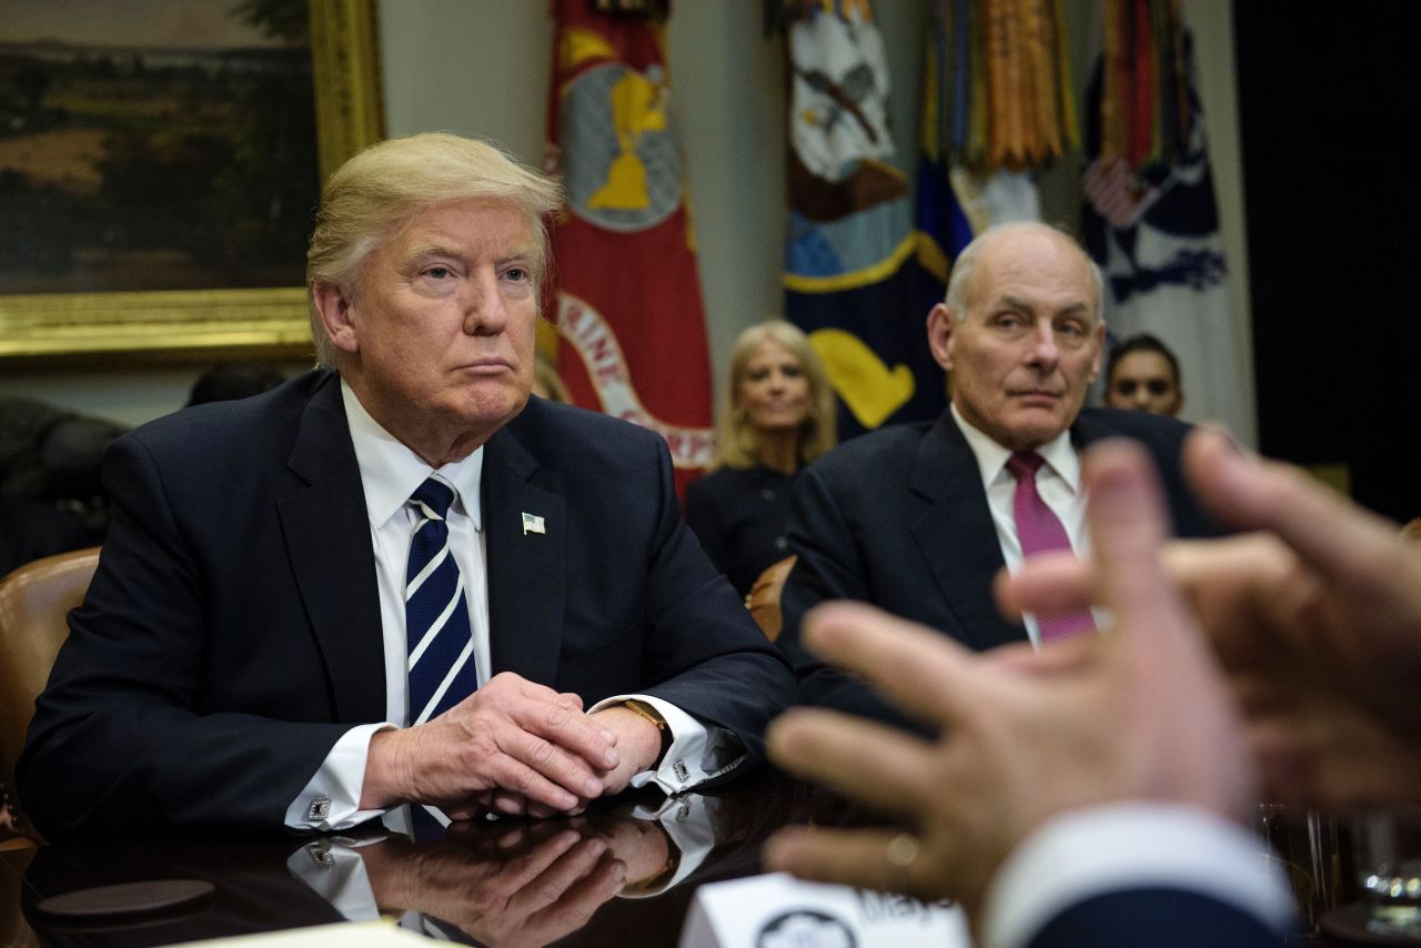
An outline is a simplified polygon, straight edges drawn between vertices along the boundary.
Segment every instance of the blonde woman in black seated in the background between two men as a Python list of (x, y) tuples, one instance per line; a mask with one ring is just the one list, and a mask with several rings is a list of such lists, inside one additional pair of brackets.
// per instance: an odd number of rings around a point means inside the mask
[(745, 596), (764, 567), (789, 556), (790, 489), (834, 446), (834, 392), (804, 334), (770, 320), (736, 338), (726, 395), (719, 456), (686, 488), (686, 523)]

